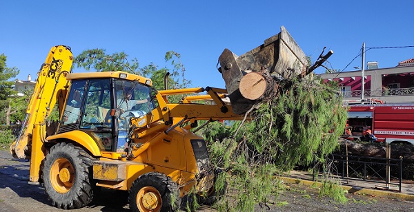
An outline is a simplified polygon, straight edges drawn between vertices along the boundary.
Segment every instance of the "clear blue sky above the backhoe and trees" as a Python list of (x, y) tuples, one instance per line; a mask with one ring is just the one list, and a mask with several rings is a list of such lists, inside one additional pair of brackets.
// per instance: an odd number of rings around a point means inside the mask
[[(323, 47), (343, 70), (366, 47), (414, 45), (414, 1), (0, 1), (0, 54), (17, 78), (35, 76), (50, 47), (124, 51), (141, 67), (168, 66), (166, 52), (181, 54), (193, 87), (224, 87), (216, 70), (224, 48), (241, 55), (284, 25), (313, 61)], [(372, 49), (366, 61), (394, 67), (414, 48)], [(330, 66), (330, 65), (329, 65)], [(345, 71), (361, 66), (357, 57)], [(76, 69), (75, 72), (83, 72)], [(323, 68), (316, 70), (324, 72)]]

